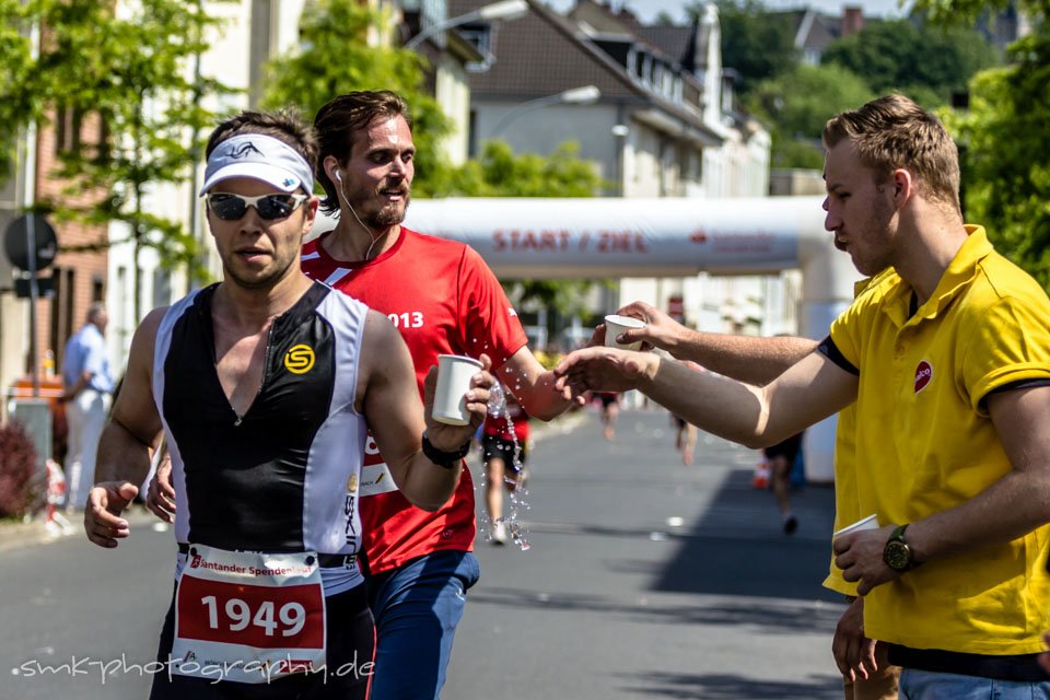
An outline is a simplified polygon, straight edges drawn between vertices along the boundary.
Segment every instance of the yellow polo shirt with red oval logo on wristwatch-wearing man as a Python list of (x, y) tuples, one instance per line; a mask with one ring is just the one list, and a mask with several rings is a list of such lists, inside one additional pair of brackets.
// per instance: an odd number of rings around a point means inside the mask
[[(983, 399), (1050, 377), (1050, 300), (992, 249), (979, 226), (909, 317), (896, 273), (832, 325), (860, 370), (856, 493), (879, 523), (912, 523), (964, 503), (1011, 471)], [(1050, 628), (1050, 527), (938, 558), (868, 594), (865, 631), (913, 649), (976, 654), (1042, 651)]]

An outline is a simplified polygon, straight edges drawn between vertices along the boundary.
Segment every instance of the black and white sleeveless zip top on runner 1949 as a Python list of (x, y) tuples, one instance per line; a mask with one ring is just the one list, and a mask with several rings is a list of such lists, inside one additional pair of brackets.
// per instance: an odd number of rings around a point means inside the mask
[[(172, 305), (154, 345), (153, 396), (172, 455), (177, 540), (355, 555), (366, 425), (353, 400), (368, 307), (315, 282), (273, 319), (258, 395), (237, 416), (215, 366), (217, 288)], [(351, 578), (346, 568), (326, 575), (326, 595), (360, 583), (351, 570)]]

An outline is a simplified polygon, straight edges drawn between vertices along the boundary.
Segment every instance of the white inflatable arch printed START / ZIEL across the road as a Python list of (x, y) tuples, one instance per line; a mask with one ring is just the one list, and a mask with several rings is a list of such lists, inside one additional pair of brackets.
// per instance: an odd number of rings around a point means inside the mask
[[(758, 275), (797, 268), (801, 331), (819, 339), (853, 300), (859, 279), (824, 229), (821, 202), (821, 197), (422, 199), (411, 203), (405, 225), (468, 244), (502, 278)], [(806, 476), (831, 481), (833, 418), (806, 432), (804, 450)]]

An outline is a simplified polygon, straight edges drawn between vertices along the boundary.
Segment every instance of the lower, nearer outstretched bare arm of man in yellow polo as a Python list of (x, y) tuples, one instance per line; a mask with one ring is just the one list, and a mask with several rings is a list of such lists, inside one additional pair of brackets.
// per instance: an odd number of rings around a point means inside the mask
[(698, 372), (652, 352), (605, 347), (571, 352), (555, 373), (565, 396), (638, 388), (701, 430), (752, 448), (777, 444), (849, 406), (858, 387), (856, 376), (819, 352), (765, 387)]

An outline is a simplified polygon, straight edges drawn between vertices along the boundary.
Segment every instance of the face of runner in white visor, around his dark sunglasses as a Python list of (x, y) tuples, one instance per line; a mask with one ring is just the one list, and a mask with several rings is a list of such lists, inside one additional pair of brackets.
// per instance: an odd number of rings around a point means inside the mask
[[(248, 177), (222, 180), (211, 191), (244, 197), (284, 194)], [(209, 210), (208, 225), (222, 258), (225, 279), (245, 289), (269, 289), (295, 272), (303, 235), (313, 225), (316, 211), (315, 197), (284, 219), (270, 221), (261, 219), (255, 207), (248, 207), (244, 215), (234, 221), (224, 221)]]

